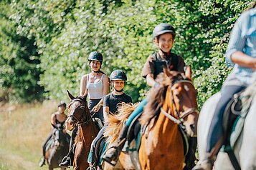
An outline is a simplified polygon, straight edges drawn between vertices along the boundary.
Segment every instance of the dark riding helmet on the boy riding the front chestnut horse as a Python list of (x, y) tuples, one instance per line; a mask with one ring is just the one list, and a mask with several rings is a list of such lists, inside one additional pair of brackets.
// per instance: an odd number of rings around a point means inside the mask
[(165, 24), (165, 23), (161, 23), (158, 24), (155, 29), (153, 29), (153, 38), (158, 38), (158, 36), (160, 36), (161, 34), (165, 34), (165, 33), (171, 33), (173, 38), (175, 38), (176, 33), (175, 33), (175, 29), (173, 26), (171, 26), (171, 24)]

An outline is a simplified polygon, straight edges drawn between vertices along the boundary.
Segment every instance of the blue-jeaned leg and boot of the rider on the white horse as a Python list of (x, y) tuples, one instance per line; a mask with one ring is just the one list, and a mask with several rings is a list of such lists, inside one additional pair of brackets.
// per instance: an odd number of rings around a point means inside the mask
[(226, 108), (232, 96), (245, 89), (245, 86), (223, 86), (222, 96), (219, 100), (217, 107), (214, 111), (214, 116), (212, 118), (211, 126), (209, 128), (209, 133), (207, 137), (207, 154), (199, 161), (199, 163), (194, 167), (194, 170), (198, 169), (212, 169), (214, 161), (219, 153), (219, 149), (222, 146), (223, 131), (222, 131), (222, 118), (224, 114), (224, 109)]

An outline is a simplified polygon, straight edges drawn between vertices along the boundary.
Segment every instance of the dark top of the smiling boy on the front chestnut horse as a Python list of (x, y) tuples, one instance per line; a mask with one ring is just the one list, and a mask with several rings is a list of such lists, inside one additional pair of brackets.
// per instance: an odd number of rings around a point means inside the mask
[[(174, 59), (175, 58), (175, 59)], [(185, 62), (181, 56), (178, 56), (174, 53), (171, 53), (166, 59), (162, 59), (161, 56), (157, 53), (148, 56), (146, 63), (143, 66), (142, 76), (146, 78), (148, 74), (153, 74), (156, 77), (156, 62), (167, 61), (167, 66), (171, 71), (180, 71), (184, 72)], [(159, 74), (159, 73), (158, 73)]]

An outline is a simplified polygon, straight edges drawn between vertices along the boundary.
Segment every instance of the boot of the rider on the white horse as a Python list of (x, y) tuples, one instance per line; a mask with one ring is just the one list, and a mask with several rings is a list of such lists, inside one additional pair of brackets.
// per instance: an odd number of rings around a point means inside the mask
[(212, 154), (207, 153), (204, 159), (198, 161), (192, 170), (212, 170), (214, 161), (215, 158), (212, 158)]

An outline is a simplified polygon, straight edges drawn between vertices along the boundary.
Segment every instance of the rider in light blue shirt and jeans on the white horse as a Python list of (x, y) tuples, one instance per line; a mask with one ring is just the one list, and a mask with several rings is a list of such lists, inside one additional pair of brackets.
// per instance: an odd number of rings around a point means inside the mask
[(224, 141), (221, 126), (224, 109), (234, 94), (252, 83), (252, 74), (256, 70), (256, 1), (235, 22), (225, 56), (234, 69), (227, 76), (221, 89), (222, 96), (209, 128), (206, 156), (198, 162), (194, 170), (212, 169)]

